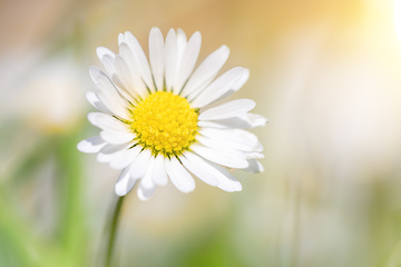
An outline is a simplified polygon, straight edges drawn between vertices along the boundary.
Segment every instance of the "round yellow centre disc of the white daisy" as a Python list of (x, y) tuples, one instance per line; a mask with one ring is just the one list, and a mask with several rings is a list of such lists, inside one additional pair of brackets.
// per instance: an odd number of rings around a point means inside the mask
[(195, 140), (198, 112), (173, 92), (149, 95), (133, 110), (136, 140), (154, 155), (178, 156)]

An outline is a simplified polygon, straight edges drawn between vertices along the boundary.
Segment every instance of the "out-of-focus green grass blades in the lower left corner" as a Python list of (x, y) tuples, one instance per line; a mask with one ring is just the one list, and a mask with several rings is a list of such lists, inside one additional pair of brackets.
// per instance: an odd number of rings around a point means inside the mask
[[(9, 131), (10, 134), (12, 131)], [(2, 177), (0, 187), (0, 266), (87, 266), (88, 236), (85, 205), (82, 205), (82, 168), (76, 145), (79, 137), (74, 135), (48, 136), (37, 140), (11, 174)], [(2, 144), (2, 147), (4, 144)], [(57, 199), (55, 201), (56, 224), (46, 236), (38, 236), (36, 221), (26, 218), (23, 208), (14, 194), (28, 185), (38, 185), (40, 169), (55, 158), (57, 162), (55, 179)], [(46, 191), (41, 190), (42, 194)], [(22, 208), (22, 210), (21, 210)], [(53, 231), (53, 233), (52, 233)], [(1, 260), (4, 259), (4, 263)]]

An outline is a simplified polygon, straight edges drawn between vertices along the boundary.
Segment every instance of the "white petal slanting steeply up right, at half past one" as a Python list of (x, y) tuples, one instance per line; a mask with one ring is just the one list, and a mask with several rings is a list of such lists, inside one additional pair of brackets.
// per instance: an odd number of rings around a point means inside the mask
[(182, 96), (187, 97), (189, 93), (196, 95), (208, 86), (228, 59), (228, 55), (229, 49), (226, 46), (222, 46), (211, 53), (192, 75), (183, 89)]

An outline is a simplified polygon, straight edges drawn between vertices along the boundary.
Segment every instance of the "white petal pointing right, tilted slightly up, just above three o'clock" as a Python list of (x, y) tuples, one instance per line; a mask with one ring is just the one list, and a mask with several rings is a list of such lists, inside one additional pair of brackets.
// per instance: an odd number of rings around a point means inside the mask
[(207, 109), (198, 117), (199, 120), (219, 120), (245, 113), (256, 106), (251, 99), (237, 99), (215, 108)]

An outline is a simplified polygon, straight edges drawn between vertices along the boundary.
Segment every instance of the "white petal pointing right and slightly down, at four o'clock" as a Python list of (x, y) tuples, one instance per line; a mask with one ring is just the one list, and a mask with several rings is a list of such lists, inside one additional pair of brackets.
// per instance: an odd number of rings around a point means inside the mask
[(218, 165), (238, 169), (248, 167), (246, 159), (238, 157), (236, 154), (207, 148), (198, 144), (192, 145), (190, 149), (200, 157)]

